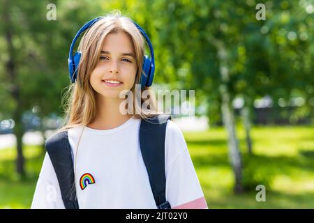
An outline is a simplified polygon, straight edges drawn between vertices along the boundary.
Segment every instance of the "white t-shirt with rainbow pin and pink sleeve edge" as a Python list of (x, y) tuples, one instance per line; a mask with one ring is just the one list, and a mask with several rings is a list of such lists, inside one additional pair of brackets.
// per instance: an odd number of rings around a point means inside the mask
[[(83, 127), (68, 130), (74, 159)], [(140, 119), (110, 130), (84, 126), (76, 157), (75, 185), (80, 208), (156, 209), (139, 141)], [(165, 136), (166, 200), (172, 208), (207, 208), (186, 146), (173, 121)], [(64, 208), (57, 176), (45, 155), (31, 208)]]

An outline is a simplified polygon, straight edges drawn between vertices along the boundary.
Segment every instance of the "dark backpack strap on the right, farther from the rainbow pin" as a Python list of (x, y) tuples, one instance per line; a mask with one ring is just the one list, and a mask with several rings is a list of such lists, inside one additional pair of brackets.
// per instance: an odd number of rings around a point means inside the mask
[(140, 125), (140, 148), (158, 209), (170, 209), (165, 199), (165, 130), (171, 116), (159, 115)]

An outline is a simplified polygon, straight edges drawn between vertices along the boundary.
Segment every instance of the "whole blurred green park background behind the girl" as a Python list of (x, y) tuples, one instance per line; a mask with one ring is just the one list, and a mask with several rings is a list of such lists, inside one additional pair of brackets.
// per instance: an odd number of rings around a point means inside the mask
[(147, 31), (154, 88), (195, 90), (195, 116), (174, 122), (209, 208), (314, 208), (313, 7), (1, 0), (0, 208), (30, 208), (43, 143), (62, 123), (70, 43), (114, 9)]

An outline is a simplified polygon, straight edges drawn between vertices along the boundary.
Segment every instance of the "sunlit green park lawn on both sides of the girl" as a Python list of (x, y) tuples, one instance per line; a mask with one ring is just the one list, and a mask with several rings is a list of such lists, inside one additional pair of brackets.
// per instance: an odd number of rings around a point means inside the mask
[[(232, 169), (223, 128), (184, 132), (209, 208), (314, 208), (314, 128), (255, 127), (253, 153), (246, 153), (245, 135), (237, 128), (244, 163), (246, 192), (234, 194)], [(26, 146), (27, 177), (15, 173), (16, 151), (0, 151), (0, 208), (30, 208), (44, 151)], [(266, 187), (266, 201), (256, 201), (255, 187)]]

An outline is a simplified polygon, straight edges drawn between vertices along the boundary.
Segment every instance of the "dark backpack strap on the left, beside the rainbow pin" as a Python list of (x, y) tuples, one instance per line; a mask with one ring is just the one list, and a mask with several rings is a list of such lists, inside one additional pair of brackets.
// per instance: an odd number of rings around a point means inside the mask
[(78, 209), (68, 132), (54, 134), (45, 141), (45, 148), (57, 174), (64, 206), (66, 209)]

